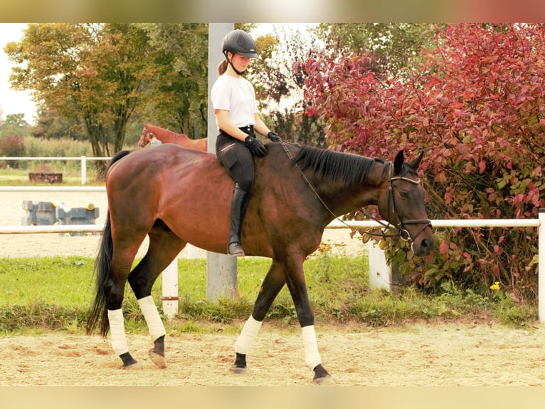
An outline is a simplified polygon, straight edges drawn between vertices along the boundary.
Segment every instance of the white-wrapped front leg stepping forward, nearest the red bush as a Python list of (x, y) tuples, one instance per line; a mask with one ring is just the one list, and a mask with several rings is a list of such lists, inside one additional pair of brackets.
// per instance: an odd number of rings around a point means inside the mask
[(297, 311), (297, 319), (301, 325), (303, 347), (305, 349), (305, 362), (314, 371), (314, 383), (321, 385), (331, 376), (322, 365), (322, 359), (318, 352), (316, 332), (314, 331), (314, 312), (310, 307), (310, 301), (305, 282), (302, 260), (291, 259), (286, 264), (286, 284)]

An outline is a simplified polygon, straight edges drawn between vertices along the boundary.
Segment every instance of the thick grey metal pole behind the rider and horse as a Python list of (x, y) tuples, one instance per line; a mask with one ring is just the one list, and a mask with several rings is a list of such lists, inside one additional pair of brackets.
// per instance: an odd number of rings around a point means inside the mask
[[(216, 152), (216, 115), (214, 115), (210, 91), (218, 78), (218, 65), (223, 61), (221, 42), (233, 23), (208, 24), (208, 152)], [(238, 295), (236, 258), (226, 254), (206, 252), (206, 298), (216, 300)]]

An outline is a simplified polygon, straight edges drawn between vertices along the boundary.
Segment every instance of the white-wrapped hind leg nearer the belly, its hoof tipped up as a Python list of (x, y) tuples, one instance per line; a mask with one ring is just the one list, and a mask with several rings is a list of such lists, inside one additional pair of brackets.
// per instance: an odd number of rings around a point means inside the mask
[(169, 266), (185, 244), (164, 227), (152, 229), (149, 232), (149, 248), (146, 255), (129, 274), (129, 284), (137, 298), (154, 343), (153, 348), (149, 350), (149, 358), (159, 368), (166, 368), (164, 359), (166, 331), (152, 298), (152, 286), (159, 274)]

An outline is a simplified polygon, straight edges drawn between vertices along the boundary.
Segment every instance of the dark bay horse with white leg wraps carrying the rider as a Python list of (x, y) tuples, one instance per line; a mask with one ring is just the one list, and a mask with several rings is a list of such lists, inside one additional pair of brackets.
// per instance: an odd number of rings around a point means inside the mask
[[(268, 257), (272, 264), (236, 341), (231, 371), (246, 371), (246, 356), (265, 314), (287, 285), (302, 328), (305, 363), (314, 371), (312, 381), (321, 384), (328, 382), (330, 374), (317, 348), (303, 262), (319, 247), (329, 222), (369, 205), (376, 205), (400, 236), (412, 240), (416, 255), (429, 254), (434, 247), (433, 232), (425, 212), (425, 190), (416, 172), (423, 152), (406, 162), (401, 150), (391, 162), (283, 140), (266, 147), (268, 155), (255, 157), (255, 182), (243, 220), (242, 242), (247, 256)], [(187, 243), (227, 253), (234, 185), (216, 155), (177, 145), (122, 151), (112, 158), (87, 332), (93, 333), (99, 324), (102, 336), (110, 330), (122, 368), (137, 363), (129, 353), (122, 315), (127, 281), (152, 338), (149, 358), (164, 368), (165, 330), (151, 296), (152, 286)], [(146, 235), (147, 253), (131, 271)]]

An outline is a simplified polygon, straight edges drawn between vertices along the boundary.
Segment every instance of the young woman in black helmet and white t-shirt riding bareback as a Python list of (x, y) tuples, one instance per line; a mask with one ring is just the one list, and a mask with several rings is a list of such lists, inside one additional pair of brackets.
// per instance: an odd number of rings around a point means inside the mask
[(253, 156), (267, 155), (267, 148), (255, 138), (254, 131), (275, 142), (280, 138), (261, 120), (255, 90), (242, 76), (250, 58), (258, 57), (252, 36), (233, 30), (223, 38), (221, 51), (226, 59), (218, 67), (220, 76), (211, 90), (219, 129), (216, 155), (236, 182), (227, 251), (233, 257), (243, 257), (240, 231), (253, 185)]

